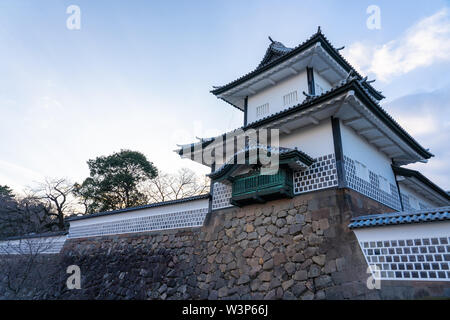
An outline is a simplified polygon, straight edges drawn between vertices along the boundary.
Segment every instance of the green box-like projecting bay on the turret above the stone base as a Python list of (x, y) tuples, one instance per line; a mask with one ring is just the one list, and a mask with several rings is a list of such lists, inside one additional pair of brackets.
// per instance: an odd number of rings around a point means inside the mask
[(233, 179), (231, 203), (235, 206), (292, 197), (292, 171), (287, 167), (280, 168), (274, 175), (261, 175), (257, 172)]

